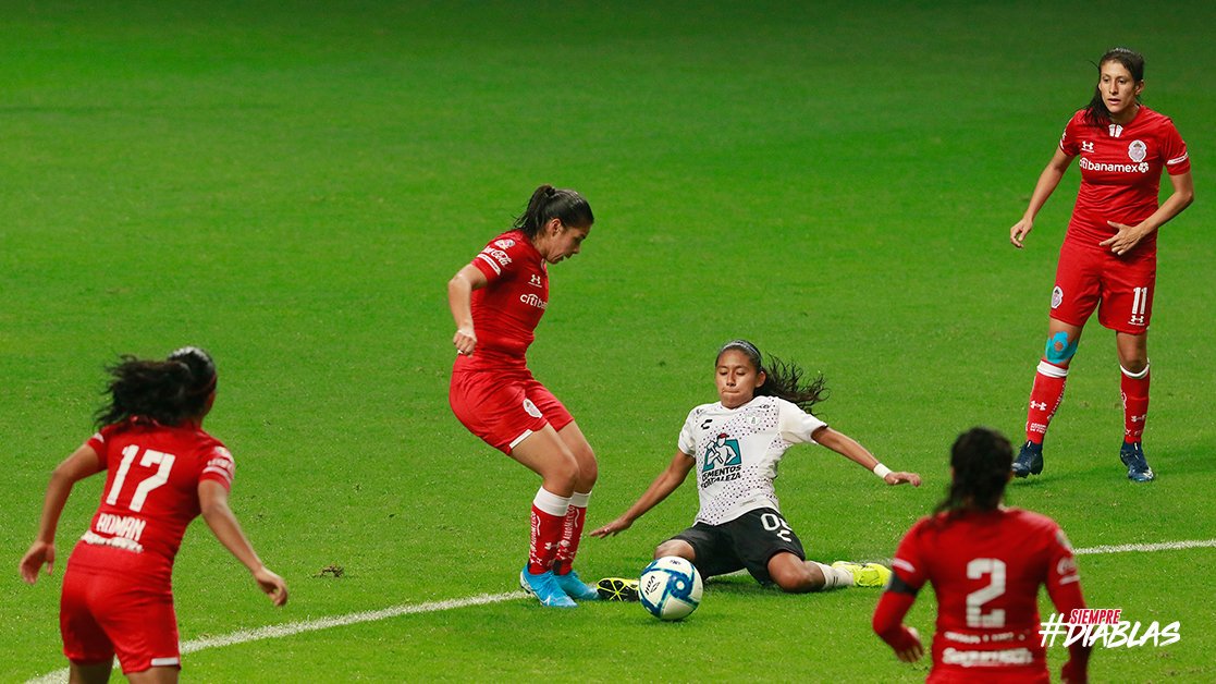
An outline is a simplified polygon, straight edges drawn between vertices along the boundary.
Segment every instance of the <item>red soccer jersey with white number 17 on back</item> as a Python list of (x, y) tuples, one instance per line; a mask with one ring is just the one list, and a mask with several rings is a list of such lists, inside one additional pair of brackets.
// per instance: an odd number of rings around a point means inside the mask
[(106, 488), (72, 566), (168, 581), (199, 514), (198, 483), (231, 487), (232, 454), (199, 427), (133, 421), (103, 427), (88, 445), (107, 470)]

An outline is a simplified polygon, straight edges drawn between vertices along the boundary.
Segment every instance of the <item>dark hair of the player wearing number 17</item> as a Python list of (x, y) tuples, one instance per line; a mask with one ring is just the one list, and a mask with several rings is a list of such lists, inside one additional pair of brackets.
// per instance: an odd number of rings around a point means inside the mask
[(97, 427), (125, 420), (180, 425), (206, 413), (219, 377), (210, 354), (198, 347), (182, 347), (163, 361), (123, 355), (106, 371), (109, 402), (97, 411)]

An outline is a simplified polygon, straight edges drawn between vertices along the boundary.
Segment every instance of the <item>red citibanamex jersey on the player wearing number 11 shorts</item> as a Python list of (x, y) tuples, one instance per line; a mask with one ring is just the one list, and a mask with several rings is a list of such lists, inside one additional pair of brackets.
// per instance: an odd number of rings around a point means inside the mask
[[(1173, 122), (1143, 106), (1127, 124), (1102, 128), (1087, 124), (1079, 111), (1064, 127), (1060, 150), (1081, 157), (1081, 189), (1066, 239), (1094, 248), (1115, 234), (1108, 220), (1136, 225), (1158, 209), (1162, 168), (1172, 175), (1190, 170), (1187, 144)], [(1136, 252), (1155, 254), (1156, 231)]]

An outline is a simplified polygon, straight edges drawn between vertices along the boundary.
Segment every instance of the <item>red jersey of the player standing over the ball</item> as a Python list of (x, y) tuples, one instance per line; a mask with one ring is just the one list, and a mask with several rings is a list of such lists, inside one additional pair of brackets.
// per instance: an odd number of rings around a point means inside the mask
[(473, 291), (472, 357), (456, 359), (456, 368), (524, 364), (540, 316), (548, 307), (548, 269), (540, 252), (519, 230), (495, 237), (473, 259), (490, 281)]

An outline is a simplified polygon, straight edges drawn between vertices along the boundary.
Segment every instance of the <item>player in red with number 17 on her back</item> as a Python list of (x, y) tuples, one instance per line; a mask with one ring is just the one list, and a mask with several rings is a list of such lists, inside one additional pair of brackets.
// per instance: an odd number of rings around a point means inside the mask
[(227, 505), (232, 454), (203, 431), (215, 402), (215, 364), (185, 347), (164, 361), (124, 357), (109, 369), (101, 430), (51, 475), (34, 544), (21, 559), (33, 584), (55, 564), (55, 528), (72, 487), (106, 471), (101, 505), (63, 573), (60, 632), (72, 682), (106, 682), (114, 655), (135, 683), (176, 682), (173, 560), (197, 515), (276, 606), (283, 579), (261, 565)]

